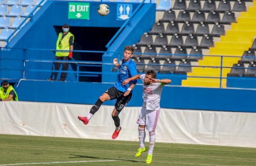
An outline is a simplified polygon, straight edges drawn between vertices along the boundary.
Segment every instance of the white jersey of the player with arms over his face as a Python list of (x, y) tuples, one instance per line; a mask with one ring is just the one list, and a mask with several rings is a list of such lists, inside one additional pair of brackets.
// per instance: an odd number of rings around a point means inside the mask
[[(144, 78), (145, 74), (140, 76), (140, 79), (142, 81), (144, 80)], [(143, 81), (142, 107), (145, 107), (147, 110), (159, 110), (163, 86), (164, 84), (159, 82), (144, 85)]]

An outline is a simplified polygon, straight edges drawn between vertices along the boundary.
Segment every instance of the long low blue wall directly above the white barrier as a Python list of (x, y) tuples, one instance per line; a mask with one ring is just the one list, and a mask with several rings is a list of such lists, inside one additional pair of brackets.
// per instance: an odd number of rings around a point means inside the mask
[[(53, 81), (21, 81), (16, 89), (20, 101), (94, 104), (114, 84)], [(141, 81), (127, 106), (142, 105)], [(161, 107), (216, 111), (256, 112), (256, 90), (165, 86)], [(114, 105), (116, 100), (105, 102)]]

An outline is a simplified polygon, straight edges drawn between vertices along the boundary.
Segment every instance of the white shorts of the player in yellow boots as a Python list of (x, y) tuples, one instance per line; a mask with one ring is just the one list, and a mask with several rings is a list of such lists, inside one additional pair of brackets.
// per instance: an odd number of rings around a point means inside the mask
[(159, 117), (159, 110), (146, 110), (145, 107), (141, 108), (139, 118), (137, 120), (137, 124), (146, 126), (148, 131), (155, 131), (157, 127), (157, 121)]

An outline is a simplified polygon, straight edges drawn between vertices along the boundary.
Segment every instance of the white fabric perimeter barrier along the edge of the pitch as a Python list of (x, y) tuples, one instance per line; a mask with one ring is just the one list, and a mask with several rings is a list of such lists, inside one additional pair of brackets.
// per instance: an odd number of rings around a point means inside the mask
[[(102, 105), (88, 125), (85, 116), (92, 105), (0, 102), (0, 133), (91, 139), (112, 139), (114, 106)], [(125, 107), (120, 113), (122, 130), (117, 140), (138, 141), (137, 118), (141, 107)], [(164, 143), (220, 145), (256, 148), (256, 113), (160, 110), (156, 141)], [(148, 132), (146, 132), (148, 134)], [(148, 135), (146, 137), (148, 141)]]

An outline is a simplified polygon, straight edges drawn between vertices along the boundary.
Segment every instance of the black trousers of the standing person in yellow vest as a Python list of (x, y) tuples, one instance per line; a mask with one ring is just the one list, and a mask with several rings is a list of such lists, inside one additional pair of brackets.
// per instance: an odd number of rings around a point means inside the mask
[[(58, 61), (60, 61), (60, 60), (69, 60), (69, 57), (68, 56), (66, 56), (66, 57), (55, 56), (55, 60), (58, 60)], [(55, 64), (54, 70), (59, 70), (61, 62), (55, 62), (54, 64)], [(69, 63), (63, 63), (62, 62), (62, 71), (67, 71), (68, 69), (69, 69)], [(63, 73), (62, 72), (61, 75), (60, 75), (60, 80), (66, 80), (67, 74), (68, 73)], [(54, 80), (56, 80), (57, 76), (58, 76), (58, 72), (52, 73), (51, 78), (53, 78), (53, 76), (54, 76)]]

